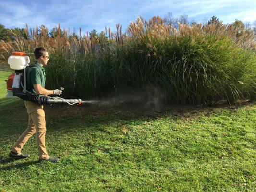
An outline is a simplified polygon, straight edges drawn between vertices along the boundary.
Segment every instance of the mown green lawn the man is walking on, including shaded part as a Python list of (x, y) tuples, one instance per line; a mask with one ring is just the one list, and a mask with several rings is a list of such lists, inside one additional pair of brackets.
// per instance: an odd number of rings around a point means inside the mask
[(256, 190), (256, 104), (240, 107), (46, 107), (47, 149), (33, 136), (13, 161), (26, 128), (22, 100), (7, 99), (0, 71), (2, 192), (252, 192)]

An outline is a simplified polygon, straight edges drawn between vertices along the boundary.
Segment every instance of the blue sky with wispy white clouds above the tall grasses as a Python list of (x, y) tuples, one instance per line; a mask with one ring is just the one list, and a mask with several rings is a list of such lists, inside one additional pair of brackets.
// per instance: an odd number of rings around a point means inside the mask
[(256, 0), (0, 0), (0, 24), (7, 28), (40, 26), (61, 28), (82, 33), (105, 26), (112, 31), (115, 24), (126, 29), (138, 16), (149, 19), (164, 17), (172, 12), (175, 17), (186, 14), (190, 21), (202, 22), (212, 15), (224, 23), (235, 19), (256, 20)]

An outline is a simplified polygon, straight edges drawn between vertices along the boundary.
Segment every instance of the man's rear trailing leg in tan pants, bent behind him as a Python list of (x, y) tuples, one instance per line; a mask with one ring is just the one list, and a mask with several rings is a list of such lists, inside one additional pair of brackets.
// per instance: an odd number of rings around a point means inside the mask
[(33, 120), (30, 115), (28, 115), (28, 127), (27, 129), (22, 133), (18, 141), (13, 145), (12, 152), (20, 153), (24, 144), (27, 142), (27, 140), (36, 133), (35, 124), (33, 123)]

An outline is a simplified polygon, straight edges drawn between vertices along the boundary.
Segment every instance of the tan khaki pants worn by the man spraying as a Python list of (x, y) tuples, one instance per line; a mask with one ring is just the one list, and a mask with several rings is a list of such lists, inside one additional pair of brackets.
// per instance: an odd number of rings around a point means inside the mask
[(12, 151), (20, 153), (24, 144), (27, 140), (36, 133), (37, 148), (40, 159), (48, 158), (48, 154), (45, 147), (45, 112), (43, 110), (43, 105), (32, 103), (29, 101), (24, 101), (27, 113), (28, 113), (28, 127), (22, 133), (18, 141), (12, 147)]

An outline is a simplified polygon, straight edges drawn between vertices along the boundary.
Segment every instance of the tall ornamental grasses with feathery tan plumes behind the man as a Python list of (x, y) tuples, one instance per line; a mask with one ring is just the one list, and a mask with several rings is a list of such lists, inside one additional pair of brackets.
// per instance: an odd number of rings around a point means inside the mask
[[(163, 24), (137, 18), (126, 33), (117, 24), (101, 36), (68, 38), (60, 25), (50, 38), (44, 27), (29, 40), (0, 42), (3, 57), (34, 48), (49, 50), (47, 87), (65, 87), (65, 96), (83, 99), (157, 88), (171, 103), (211, 103), (255, 99), (256, 44), (248, 30), (232, 24)], [(28, 31), (28, 27), (26, 29)], [(80, 30), (81, 31), (81, 30)], [(31, 58), (31, 59), (32, 59)]]

